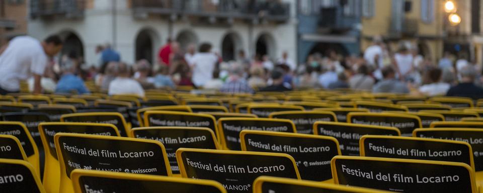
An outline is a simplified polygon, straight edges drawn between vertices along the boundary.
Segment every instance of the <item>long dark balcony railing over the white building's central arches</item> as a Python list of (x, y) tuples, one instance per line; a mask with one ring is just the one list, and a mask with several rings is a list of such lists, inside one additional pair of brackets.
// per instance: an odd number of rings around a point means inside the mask
[(285, 22), (289, 19), (289, 4), (246, 0), (135, 0), (134, 16), (148, 14), (215, 17), (225, 19), (266, 19)]

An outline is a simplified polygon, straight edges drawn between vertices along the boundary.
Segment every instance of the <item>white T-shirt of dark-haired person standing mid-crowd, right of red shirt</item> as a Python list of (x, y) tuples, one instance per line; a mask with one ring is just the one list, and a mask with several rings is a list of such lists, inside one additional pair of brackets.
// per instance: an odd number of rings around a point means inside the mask
[(213, 53), (196, 53), (191, 59), (193, 65), (193, 83), (196, 86), (203, 86), (213, 77), (213, 70), (218, 57)]

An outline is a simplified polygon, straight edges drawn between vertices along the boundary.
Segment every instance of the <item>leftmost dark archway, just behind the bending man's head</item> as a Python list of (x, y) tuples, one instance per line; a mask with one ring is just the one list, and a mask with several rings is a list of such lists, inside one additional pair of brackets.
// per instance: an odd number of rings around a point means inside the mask
[(70, 58), (84, 60), (84, 44), (82, 40), (73, 32), (63, 32), (61, 36), (64, 43), (61, 50), (61, 56), (67, 55)]

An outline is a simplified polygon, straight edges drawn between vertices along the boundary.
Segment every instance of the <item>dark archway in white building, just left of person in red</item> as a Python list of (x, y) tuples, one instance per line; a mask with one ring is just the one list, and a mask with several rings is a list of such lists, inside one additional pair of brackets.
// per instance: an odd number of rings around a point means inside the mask
[(153, 30), (143, 29), (137, 34), (135, 41), (136, 61), (145, 59), (152, 65), (155, 61), (154, 56), (158, 46), (157, 42), (159, 42), (157, 34)]

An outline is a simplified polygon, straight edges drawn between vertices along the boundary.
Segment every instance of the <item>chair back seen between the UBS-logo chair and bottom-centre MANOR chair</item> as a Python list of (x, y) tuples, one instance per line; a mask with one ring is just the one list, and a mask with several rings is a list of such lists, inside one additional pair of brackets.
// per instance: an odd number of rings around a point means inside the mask
[(218, 141), (209, 128), (145, 127), (135, 128), (131, 132), (135, 138), (156, 140), (163, 143), (171, 170), (175, 174), (180, 173), (176, 160), (176, 150), (179, 148), (218, 149)]

